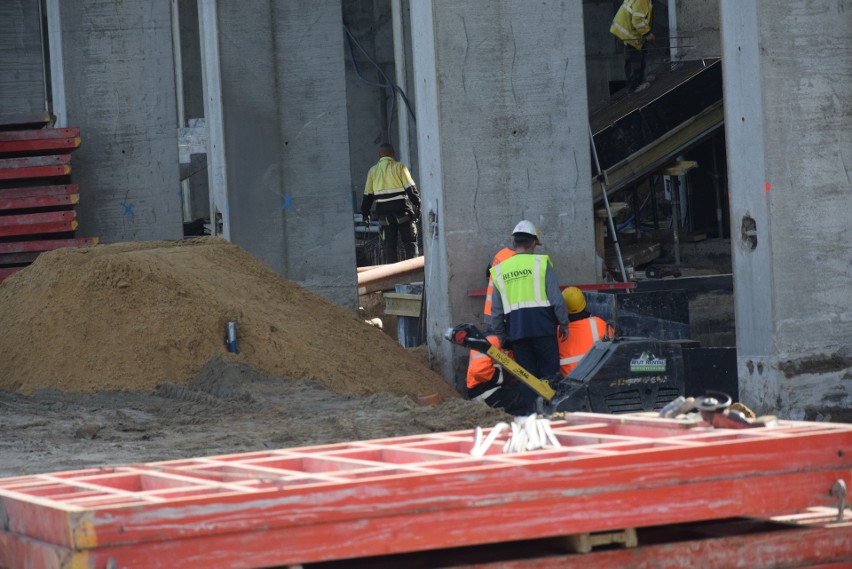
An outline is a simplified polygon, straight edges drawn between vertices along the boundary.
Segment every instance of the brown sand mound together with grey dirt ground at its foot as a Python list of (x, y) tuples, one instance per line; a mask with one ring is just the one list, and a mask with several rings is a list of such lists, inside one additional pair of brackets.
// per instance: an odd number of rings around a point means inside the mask
[[(228, 321), (239, 354), (227, 351)], [(215, 238), (0, 285), (0, 477), (491, 426), (416, 350)], [(417, 396), (444, 401), (420, 406)]]

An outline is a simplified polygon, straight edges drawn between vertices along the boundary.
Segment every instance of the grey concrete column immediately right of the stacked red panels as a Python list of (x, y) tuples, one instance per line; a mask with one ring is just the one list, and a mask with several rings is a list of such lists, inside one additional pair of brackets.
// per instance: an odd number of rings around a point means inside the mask
[(102, 242), (183, 235), (168, 0), (55, 2), (78, 234)]

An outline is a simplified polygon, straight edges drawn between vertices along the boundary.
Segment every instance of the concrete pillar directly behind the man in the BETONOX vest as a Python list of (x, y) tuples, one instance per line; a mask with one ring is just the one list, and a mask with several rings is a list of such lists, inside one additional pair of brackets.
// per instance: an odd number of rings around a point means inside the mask
[(427, 336), (461, 382), (467, 354), (442, 333), (480, 322), (468, 290), (519, 220), (539, 226), (561, 283), (595, 279), (582, 7), (423, 0), (411, 20)]

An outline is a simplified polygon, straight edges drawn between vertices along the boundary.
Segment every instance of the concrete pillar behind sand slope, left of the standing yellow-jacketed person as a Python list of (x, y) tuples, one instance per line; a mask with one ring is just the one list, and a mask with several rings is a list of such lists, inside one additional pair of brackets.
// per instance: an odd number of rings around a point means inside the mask
[(340, 1), (218, 2), (216, 9), (224, 135), (208, 141), (208, 160), (215, 168), (209, 151), (221, 144), (225, 180), (223, 191), (210, 176), (211, 211), (223, 213), (231, 241), (354, 311)]

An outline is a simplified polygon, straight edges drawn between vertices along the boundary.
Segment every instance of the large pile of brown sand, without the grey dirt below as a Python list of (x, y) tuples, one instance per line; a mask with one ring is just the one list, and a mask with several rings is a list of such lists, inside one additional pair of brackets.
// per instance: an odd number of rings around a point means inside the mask
[(0, 389), (25, 394), (188, 383), (224, 355), (341, 393), (457, 396), (382, 331), (212, 237), (44, 253), (0, 285), (0, 330)]

